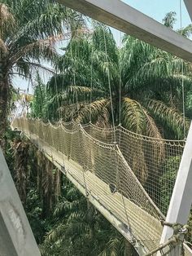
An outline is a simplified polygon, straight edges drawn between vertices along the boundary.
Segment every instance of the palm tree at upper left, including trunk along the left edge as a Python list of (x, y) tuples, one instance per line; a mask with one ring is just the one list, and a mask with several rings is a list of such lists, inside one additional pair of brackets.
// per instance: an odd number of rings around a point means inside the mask
[[(81, 25), (81, 15), (55, 2), (2, 0), (0, 3), (0, 142), (7, 126), (7, 103), (15, 75), (30, 77), (33, 69), (49, 70), (42, 61), (58, 55), (55, 42), (65, 24)], [(69, 26), (69, 25), (68, 25)]]

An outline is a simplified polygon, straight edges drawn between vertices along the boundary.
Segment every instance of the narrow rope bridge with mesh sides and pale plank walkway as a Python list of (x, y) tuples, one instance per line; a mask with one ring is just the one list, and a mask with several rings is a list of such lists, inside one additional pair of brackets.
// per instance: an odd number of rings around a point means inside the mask
[[(24, 117), (15, 118), (12, 128), (23, 131), (100, 205), (98, 210), (140, 255), (159, 246), (185, 141), (137, 135), (122, 126), (102, 129), (75, 121), (53, 125)], [(111, 220), (115, 218), (118, 224)]]

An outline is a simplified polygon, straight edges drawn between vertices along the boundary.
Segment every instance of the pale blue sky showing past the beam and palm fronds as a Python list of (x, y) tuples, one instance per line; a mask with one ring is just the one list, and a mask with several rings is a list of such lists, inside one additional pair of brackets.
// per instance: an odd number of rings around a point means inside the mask
[[(185, 4), (183, 0), (122, 0), (123, 2), (129, 4), (129, 6), (137, 9), (137, 11), (142, 11), (142, 13), (150, 16), (154, 20), (161, 22), (164, 19), (164, 15), (169, 11), (175, 11), (177, 13), (177, 22), (174, 29), (180, 29), (182, 27), (190, 24), (190, 16), (186, 11)], [(180, 1), (181, 1), (181, 18), (180, 18)], [(120, 44), (121, 34), (116, 29), (112, 29), (116, 42)], [(24, 79), (15, 78), (15, 87), (20, 87), (22, 89), (27, 89), (28, 82)], [(32, 86), (29, 87), (29, 91), (32, 92)]]

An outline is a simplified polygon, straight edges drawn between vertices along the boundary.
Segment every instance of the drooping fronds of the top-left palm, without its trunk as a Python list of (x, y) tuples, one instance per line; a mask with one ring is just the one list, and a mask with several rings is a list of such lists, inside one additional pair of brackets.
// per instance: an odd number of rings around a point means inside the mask
[(70, 24), (71, 19), (81, 22), (74, 11), (47, 0), (2, 0), (1, 5), (4, 10), (1, 46), (10, 77), (15, 71), (27, 77), (31, 68), (43, 68), (42, 58), (54, 60), (55, 42), (63, 33), (63, 22)]

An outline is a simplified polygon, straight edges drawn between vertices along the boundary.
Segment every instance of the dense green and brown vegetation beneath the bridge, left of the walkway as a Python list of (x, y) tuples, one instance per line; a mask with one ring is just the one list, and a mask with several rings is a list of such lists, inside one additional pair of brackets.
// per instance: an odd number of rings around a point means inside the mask
[(26, 138), (8, 130), (6, 152), (42, 256), (137, 256), (133, 246)]

